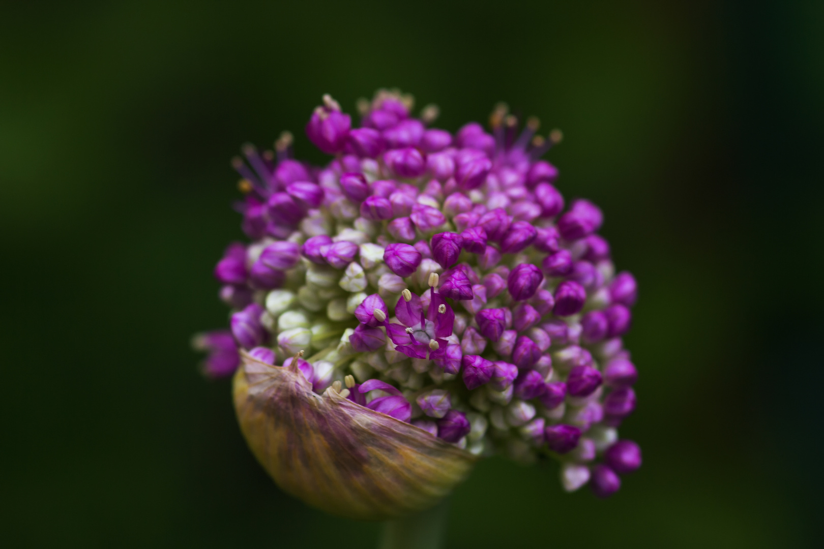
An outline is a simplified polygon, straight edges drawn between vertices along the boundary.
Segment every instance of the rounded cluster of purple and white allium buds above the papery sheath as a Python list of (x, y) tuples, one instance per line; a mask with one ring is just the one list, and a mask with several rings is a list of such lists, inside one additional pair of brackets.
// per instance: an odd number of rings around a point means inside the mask
[[(566, 207), (560, 141), (498, 105), (491, 133), (429, 127), (438, 109), (379, 91), (361, 127), (326, 95), (307, 123), (325, 167), (246, 146), (233, 161), (250, 244), (214, 270), (231, 330), (205, 333), (208, 375), (246, 360), (298, 372), (329, 394), (475, 456), (560, 462), (567, 491), (598, 496), (641, 463), (619, 440), (637, 373), (621, 337), (634, 277), (616, 273), (601, 210)], [(308, 386), (308, 385), (307, 385)]]

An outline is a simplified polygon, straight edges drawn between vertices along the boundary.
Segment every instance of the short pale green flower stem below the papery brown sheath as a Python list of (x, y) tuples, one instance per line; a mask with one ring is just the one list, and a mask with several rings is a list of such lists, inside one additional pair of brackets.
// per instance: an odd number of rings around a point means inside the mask
[(378, 549), (439, 549), (447, 526), (448, 498), (423, 513), (387, 521)]

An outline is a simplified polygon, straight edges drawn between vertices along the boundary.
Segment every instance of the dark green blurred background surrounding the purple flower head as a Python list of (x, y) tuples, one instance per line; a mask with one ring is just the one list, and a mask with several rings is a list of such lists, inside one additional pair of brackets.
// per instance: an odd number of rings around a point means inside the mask
[[(213, 264), (242, 142), (380, 86), (562, 128), (559, 188), (639, 279), (644, 467), (596, 500), (481, 463), (447, 547), (814, 547), (822, 2), (0, 2), (5, 547), (374, 547), (284, 495), (227, 381)], [(821, 546), (818, 546), (821, 547)]]

